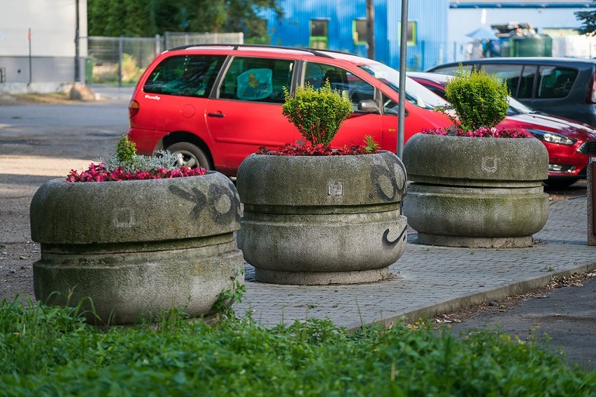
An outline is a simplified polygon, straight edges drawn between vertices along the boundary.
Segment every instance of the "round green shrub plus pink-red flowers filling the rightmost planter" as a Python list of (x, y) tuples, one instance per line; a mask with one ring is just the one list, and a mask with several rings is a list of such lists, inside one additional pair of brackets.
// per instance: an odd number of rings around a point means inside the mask
[(428, 135), (469, 136), (476, 138), (529, 138), (516, 129), (497, 129), (507, 115), (509, 89), (505, 81), (484, 70), (460, 68), (445, 86), (445, 96), (455, 115), (441, 110), (453, 122), (448, 129), (425, 129)]

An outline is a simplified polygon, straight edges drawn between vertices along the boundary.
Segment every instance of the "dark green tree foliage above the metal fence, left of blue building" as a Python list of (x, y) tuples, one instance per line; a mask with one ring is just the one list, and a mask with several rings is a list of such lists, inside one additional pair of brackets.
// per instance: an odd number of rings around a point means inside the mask
[(262, 13), (283, 15), (281, 0), (88, 0), (89, 36), (150, 37), (164, 31), (267, 35)]

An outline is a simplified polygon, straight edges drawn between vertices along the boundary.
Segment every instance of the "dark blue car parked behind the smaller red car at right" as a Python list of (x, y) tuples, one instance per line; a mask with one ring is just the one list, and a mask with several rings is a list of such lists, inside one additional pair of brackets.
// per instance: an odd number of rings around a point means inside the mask
[(596, 127), (596, 59), (495, 57), (441, 64), (427, 71), (453, 75), (460, 64), (506, 78), (511, 96), (531, 108)]

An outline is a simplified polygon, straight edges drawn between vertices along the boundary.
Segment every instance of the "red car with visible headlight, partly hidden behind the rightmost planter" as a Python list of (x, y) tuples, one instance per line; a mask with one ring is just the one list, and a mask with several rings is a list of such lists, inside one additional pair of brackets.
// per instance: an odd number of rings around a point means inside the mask
[[(442, 98), (448, 78), (453, 77), (420, 72), (408, 75)], [(590, 125), (538, 112), (511, 96), (507, 116), (497, 127), (525, 130), (544, 143), (549, 161), (546, 184), (551, 187), (567, 187), (586, 178), (590, 156), (596, 154), (596, 130)]]

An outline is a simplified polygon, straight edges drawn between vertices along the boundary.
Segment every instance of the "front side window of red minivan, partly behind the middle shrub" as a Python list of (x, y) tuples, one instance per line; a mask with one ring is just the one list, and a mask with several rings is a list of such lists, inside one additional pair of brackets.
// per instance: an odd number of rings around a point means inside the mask
[(358, 110), (358, 103), (364, 99), (374, 100), (374, 87), (357, 75), (332, 65), (308, 62), (304, 70), (306, 84), (318, 89), (329, 80), (332, 89), (346, 92), (352, 101), (352, 109)]

